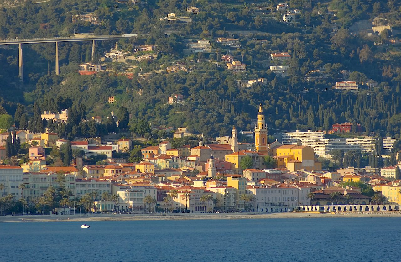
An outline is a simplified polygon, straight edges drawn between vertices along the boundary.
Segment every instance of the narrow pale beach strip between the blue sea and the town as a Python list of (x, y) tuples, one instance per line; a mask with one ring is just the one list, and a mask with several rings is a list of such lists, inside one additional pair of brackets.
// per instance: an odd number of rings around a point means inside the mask
[[(65, 221), (139, 221), (139, 220), (192, 220), (192, 219), (271, 219), (271, 218), (334, 218), (334, 217), (401, 217), (401, 211), (378, 212), (334, 212), (318, 213), (199, 213), (199, 214), (117, 214), (117, 215), (7, 215), (0, 217), (4, 222), (65, 222)], [(23, 220), (22, 220), (23, 219)]]

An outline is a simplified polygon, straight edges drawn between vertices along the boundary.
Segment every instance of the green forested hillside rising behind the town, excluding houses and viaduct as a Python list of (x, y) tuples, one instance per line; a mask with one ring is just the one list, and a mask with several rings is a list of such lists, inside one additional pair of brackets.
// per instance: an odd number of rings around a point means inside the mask
[[(274, 1), (276, 3), (277, 1)], [(118, 45), (132, 50), (134, 45), (157, 45), (157, 59), (108, 65), (109, 71), (79, 75), (81, 62), (99, 61), (113, 41), (96, 44), (60, 43), (61, 74), (54, 74), (53, 44), (24, 46), (24, 81), (18, 80), (18, 50), (0, 48), (0, 105), (14, 116), (18, 104), (33, 114), (51, 110), (49, 100), (70, 98), (73, 106), (85, 105), (89, 118), (109, 116), (120, 107), (128, 108), (131, 121), (145, 119), (151, 124), (188, 126), (205, 136), (228, 135), (233, 125), (250, 130), (256, 106), (262, 104), (270, 129), (329, 130), (336, 122), (358, 122), (364, 131), (381, 136), (401, 133), (401, 51), (399, 42), (400, 6), (394, 0), (290, 0), (299, 9), (296, 23), (279, 21), (283, 13), (273, 1), (178, 1), (153, 0), (142, 4), (118, 4), (111, 0), (51, 0), (27, 3), (0, 10), (0, 38), (67, 36), (76, 32), (95, 35), (138, 34)], [(198, 14), (186, 12), (199, 8)], [(261, 11), (260, 7), (263, 7)], [(160, 20), (169, 13), (189, 16), (192, 22)], [(93, 13), (99, 23), (72, 22), (75, 14)], [(333, 15), (335, 14), (335, 15)], [(378, 36), (362, 30), (380, 17), (391, 24)], [(339, 26), (334, 31), (333, 24)], [(359, 29), (355, 29), (359, 28)], [(167, 33), (167, 35), (165, 34)], [(232, 37), (240, 47), (216, 43), (217, 37)], [(213, 52), (184, 54), (185, 43), (209, 39)], [(288, 52), (284, 65), (288, 77), (279, 77), (269, 66), (270, 53)], [(247, 65), (245, 72), (231, 73), (221, 55), (231, 53)], [(274, 62), (274, 61), (273, 61)], [(168, 65), (180, 63), (188, 72), (166, 73)], [(127, 69), (130, 67), (131, 69)], [(317, 71), (319, 69), (320, 71)], [(130, 70), (132, 78), (120, 75)], [(310, 72), (313, 71), (313, 72)], [(315, 74), (315, 75), (314, 75)], [(240, 85), (238, 80), (265, 77), (267, 85)], [(377, 82), (367, 85), (367, 81)], [(359, 83), (359, 91), (332, 89), (337, 81)], [(169, 105), (168, 96), (184, 95), (182, 104)], [(108, 104), (107, 98), (116, 102)], [(0, 108), (0, 110), (2, 109)], [(79, 132), (78, 132), (79, 134)]]

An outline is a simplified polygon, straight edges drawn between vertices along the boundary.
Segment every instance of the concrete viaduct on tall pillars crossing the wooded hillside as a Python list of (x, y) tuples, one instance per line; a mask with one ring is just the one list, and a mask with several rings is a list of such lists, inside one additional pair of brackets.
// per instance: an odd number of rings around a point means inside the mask
[(59, 75), (59, 42), (92, 41), (92, 57), (95, 53), (95, 40), (118, 40), (122, 38), (135, 37), (130, 35), (82, 35), (73, 37), (49, 37), (49, 38), (28, 38), (28, 39), (7, 39), (0, 40), (0, 45), (18, 45), (18, 76), (23, 79), (24, 69), (22, 62), (22, 44), (56, 43), (56, 75)]

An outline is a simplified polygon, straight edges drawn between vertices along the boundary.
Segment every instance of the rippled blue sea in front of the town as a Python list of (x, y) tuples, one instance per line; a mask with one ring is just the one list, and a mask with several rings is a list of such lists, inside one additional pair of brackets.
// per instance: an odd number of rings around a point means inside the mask
[(400, 261), (400, 220), (0, 223), (0, 261)]

